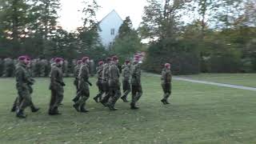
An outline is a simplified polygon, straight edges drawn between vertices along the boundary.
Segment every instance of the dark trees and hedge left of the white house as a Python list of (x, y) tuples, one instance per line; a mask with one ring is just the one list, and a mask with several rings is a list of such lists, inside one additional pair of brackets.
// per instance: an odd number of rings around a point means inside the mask
[(81, 58), (98, 60), (107, 51), (99, 42), (94, 1), (83, 2), (83, 26), (67, 32), (58, 26), (59, 0), (1, 0), (0, 58)]

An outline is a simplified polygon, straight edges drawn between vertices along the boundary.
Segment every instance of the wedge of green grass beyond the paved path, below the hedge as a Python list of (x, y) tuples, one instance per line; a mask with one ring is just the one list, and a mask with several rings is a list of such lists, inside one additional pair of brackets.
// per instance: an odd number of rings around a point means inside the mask
[(184, 78), (193, 78), (210, 82), (256, 87), (256, 74), (194, 74), (184, 75)]

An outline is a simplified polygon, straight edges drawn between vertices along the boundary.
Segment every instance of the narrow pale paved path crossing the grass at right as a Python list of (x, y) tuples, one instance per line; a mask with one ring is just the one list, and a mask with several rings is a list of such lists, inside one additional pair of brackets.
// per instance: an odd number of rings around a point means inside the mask
[(178, 80), (178, 81), (195, 82), (195, 83), (202, 83), (202, 84), (206, 84), (206, 85), (223, 86), (223, 87), (229, 87), (229, 88), (234, 88), (234, 89), (256, 91), (256, 88), (248, 87), (248, 86), (238, 86), (238, 85), (230, 85), (230, 84), (217, 83), (217, 82), (198, 81), (198, 80), (194, 80), (194, 79), (190, 79), (190, 78), (180, 78), (180, 77), (174, 77), (174, 79)]

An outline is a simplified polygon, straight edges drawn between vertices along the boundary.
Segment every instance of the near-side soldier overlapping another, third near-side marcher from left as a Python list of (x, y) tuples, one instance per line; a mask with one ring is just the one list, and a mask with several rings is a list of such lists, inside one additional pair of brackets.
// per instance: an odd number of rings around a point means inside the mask
[(89, 111), (85, 109), (86, 100), (90, 97), (89, 85), (91, 86), (91, 83), (89, 82), (90, 72), (89, 72), (88, 62), (89, 62), (88, 57), (82, 58), (82, 66), (80, 67), (79, 74), (78, 74), (79, 99), (73, 105), (75, 110), (82, 113), (86, 113)]

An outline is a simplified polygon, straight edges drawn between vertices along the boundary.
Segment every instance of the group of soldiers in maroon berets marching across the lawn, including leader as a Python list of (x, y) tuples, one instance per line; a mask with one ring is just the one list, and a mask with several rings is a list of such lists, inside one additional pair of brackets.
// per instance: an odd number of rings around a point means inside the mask
[[(137, 110), (138, 100), (142, 97), (142, 82), (141, 82), (141, 58), (139, 55), (134, 56), (133, 62), (129, 59), (126, 60), (122, 66), (122, 90), (119, 77), (121, 76), (118, 69), (118, 57), (106, 58), (105, 62), (98, 62), (96, 68), (98, 80), (96, 85), (98, 86), (98, 94), (94, 97), (95, 102), (102, 103), (103, 106), (109, 108), (109, 110), (118, 110), (115, 108), (115, 103), (119, 98), (123, 102), (129, 102), (127, 96), (131, 92), (130, 109)], [(57, 115), (61, 114), (58, 107), (62, 104), (64, 97), (64, 86), (62, 66), (65, 63), (63, 58), (54, 58), (51, 60), (50, 68), (50, 106), (48, 114)], [(16, 88), (18, 90), (18, 97), (14, 101), (14, 105), (11, 111), (16, 111), (18, 118), (26, 118), (24, 110), (26, 107), (30, 107), (32, 112), (37, 112), (38, 107), (34, 106), (32, 102), (31, 94), (33, 93), (34, 79), (31, 74), (32, 62), (27, 56), (21, 56), (18, 58), (16, 65), (15, 77)], [(76, 95), (73, 98), (74, 110), (87, 113), (86, 101), (90, 98), (90, 58), (83, 57), (77, 61), (77, 66), (74, 67), (74, 86), (76, 88)], [(163, 104), (169, 104), (168, 98), (171, 94), (171, 72), (170, 64), (166, 63), (162, 70), (162, 90), (164, 96), (161, 100)]]

